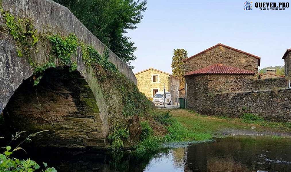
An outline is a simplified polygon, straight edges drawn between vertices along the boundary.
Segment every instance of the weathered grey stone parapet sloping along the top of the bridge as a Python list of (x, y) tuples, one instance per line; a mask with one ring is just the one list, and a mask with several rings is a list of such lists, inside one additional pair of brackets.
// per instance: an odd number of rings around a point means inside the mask
[[(9, 0), (2, 1), (4, 10), (10, 11), (18, 17), (34, 20), (34, 26), (41, 33), (61, 33), (68, 36), (74, 33), (81, 41), (92, 45), (100, 54), (104, 53), (106, 46), (98, 40), (70, 10), (51, 0)], [(0, 15), (0, 21), (3, 19)], [(121, 73), (137, 84), (131, 68), (117, 55), (109, 50), (109, 60), (115, 64)]]

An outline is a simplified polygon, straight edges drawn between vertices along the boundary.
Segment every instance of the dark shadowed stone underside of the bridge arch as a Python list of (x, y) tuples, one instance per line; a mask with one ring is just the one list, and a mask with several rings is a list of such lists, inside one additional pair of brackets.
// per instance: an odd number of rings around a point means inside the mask
[[(37, 144), (70, 147), (105, 146), (107, 116), (101, 115), (95, 95), (79, 71), (50, 68), (37, 86), (33, 76), (16, 89), (3, 110), (14, 131), (35, 133)], [(96, 91), (96, 90), (94, 90)]]

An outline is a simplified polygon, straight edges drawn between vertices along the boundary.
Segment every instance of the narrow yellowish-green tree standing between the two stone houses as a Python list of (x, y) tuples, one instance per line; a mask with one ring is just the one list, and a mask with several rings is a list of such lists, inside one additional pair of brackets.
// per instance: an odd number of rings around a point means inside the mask
[(174, 54), (172, 57), (172, 72), (173, 76), (176, 76), (181, 79), (180, 88), (183, 88), (185, 86), (184, 83), (184, 62), (182, 62), (183, 59), (187, 58), (187, 51), (184, 49), (174, 49)]

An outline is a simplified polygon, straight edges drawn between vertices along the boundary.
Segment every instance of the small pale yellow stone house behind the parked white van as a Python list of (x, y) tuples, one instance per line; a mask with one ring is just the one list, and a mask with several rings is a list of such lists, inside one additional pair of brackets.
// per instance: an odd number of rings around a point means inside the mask
[(137, 79), (137, 87), (140, 92), (145, 94), (149, 99), (158, 91), (164, 91), (164, 83), (167, 92), (171, 92), (172, 102), (177, 101), (178, 89), (181, 80), (166, 72), (149, 68), (135, 74)]

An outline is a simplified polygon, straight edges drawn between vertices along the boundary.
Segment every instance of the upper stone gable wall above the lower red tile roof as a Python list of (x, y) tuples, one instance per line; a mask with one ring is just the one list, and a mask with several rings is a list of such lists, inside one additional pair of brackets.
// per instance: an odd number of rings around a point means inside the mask
[[(258, 74), (257, 58), (223, 46), (217, 46), (194, 58), (184, 61), (185, 73), (217, 63), (251, 70), (254, 71), (255, 74)], [(254, 78), (257, 78), (257, 75), (255, 75)]]

